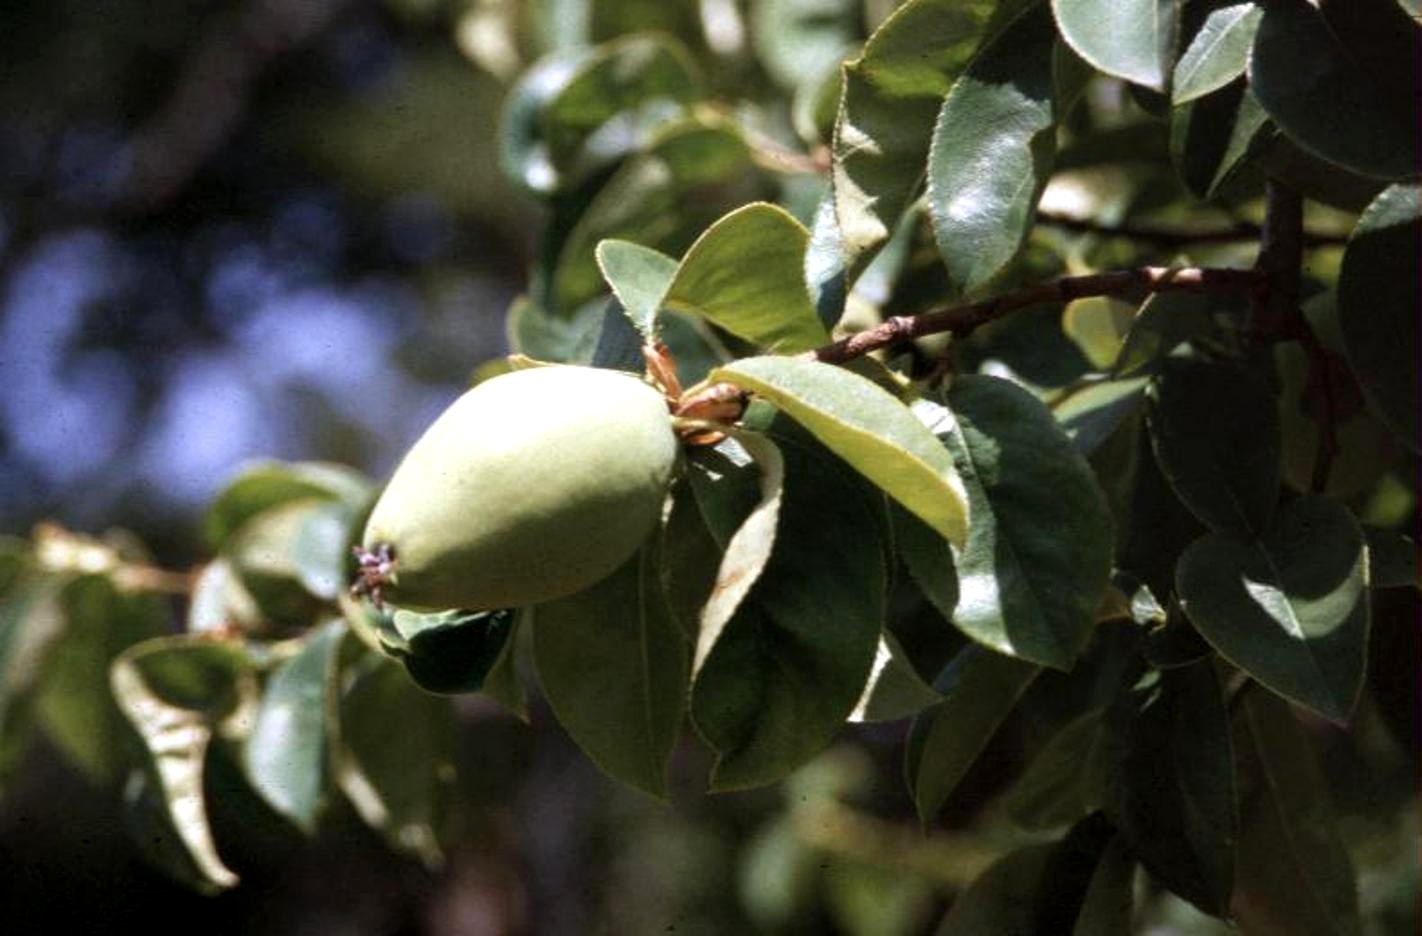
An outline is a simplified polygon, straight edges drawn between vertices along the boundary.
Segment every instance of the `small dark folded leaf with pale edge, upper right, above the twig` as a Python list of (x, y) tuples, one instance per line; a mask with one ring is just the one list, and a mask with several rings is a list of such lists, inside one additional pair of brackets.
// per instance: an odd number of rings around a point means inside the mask
[(1196, 198), (1219, 195), (1276, 135), (1243, 80), (1170, 110), (1170, 161)]

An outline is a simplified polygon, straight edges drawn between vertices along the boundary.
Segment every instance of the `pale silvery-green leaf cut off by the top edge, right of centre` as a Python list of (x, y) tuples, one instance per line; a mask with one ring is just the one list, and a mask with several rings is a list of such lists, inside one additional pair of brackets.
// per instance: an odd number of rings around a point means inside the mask
[(1062, 38), (1108, 75), (1166, 91), (1179, 0), (1052, 0)]

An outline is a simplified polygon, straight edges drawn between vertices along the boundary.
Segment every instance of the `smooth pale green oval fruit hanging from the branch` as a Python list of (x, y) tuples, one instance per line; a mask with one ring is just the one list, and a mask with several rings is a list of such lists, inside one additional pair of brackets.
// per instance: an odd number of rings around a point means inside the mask
[(405, 607), (489, 610), (572, 595), (651, 533), (677, 452), (665, 400), (630, 374), (501, 374), (410, 450), (364, 546), (394, 548), (383, 587)]

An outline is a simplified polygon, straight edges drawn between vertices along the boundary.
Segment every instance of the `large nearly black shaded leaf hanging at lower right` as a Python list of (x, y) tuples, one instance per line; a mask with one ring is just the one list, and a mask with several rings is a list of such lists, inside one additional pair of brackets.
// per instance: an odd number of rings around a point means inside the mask
[(1156, 881), (1221, 916), (1239, 808), (1219, 677), (1202, 661), (1148, 680), (1108, 714), (1106, 815)]

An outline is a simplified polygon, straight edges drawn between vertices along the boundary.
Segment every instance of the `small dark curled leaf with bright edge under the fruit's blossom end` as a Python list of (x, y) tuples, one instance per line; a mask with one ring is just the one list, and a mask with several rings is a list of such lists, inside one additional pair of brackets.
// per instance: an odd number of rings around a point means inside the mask
[(513, 633), (513, 612), (397, 610), (394, 627), (404, 647), (395, 656), (427, 693), (476, 693)]

